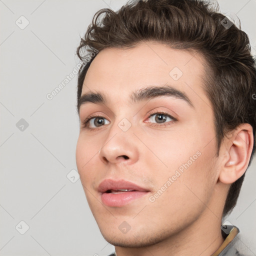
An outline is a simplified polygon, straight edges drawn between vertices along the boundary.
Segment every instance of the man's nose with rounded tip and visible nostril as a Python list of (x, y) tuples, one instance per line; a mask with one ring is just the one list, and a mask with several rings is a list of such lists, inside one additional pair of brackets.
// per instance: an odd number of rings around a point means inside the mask
[(109, 132), (99, 151), (100, 159), (105, 163), (132, 164), (138, 159), (138, 141), (131, 127), (123, 131), (116, 123), (109, 128)]

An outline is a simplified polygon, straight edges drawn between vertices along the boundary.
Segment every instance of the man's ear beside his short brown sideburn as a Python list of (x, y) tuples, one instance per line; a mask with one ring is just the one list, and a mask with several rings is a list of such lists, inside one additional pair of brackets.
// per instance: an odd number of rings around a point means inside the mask
[(253, 147), (252, 126), (248, 123), (239, 125), (229, 138), (223, 141), (223, 159), (219, 181), (231, 184), (237, 180), (248, 167)]

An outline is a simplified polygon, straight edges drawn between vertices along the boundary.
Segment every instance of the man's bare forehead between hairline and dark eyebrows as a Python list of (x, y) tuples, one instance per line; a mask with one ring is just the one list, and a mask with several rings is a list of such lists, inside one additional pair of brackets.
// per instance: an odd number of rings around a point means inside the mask
[(200, 98), (203, 104), (210, 104), (203, 90), (204, 66), (201, 54), (156, 42), (128, 49), (106, 48), (90, 64), (81, 94), (97, 91), (110, 100), (128, 100), (134, 90), (171, 84), (188, 93), (191, 101)]

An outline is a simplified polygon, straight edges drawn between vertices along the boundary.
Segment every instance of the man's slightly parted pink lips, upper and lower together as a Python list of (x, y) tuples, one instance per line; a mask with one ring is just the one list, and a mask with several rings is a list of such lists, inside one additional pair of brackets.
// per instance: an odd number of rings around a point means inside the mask
[(102, 203), (111, 207), (121, 207), (149, 192), (148, 189), (123, 179), (105, 179), (99, 184), (98, 191), (101, 193)]

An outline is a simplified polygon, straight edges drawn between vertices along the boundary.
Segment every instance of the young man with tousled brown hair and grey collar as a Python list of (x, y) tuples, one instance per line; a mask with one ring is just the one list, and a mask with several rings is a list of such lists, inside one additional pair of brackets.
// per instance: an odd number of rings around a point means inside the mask
[(250, 255), (220, 228), (255, 150), (247, 35), (202, 1), (140, 0), (98, 11), (77, 53), (76, 164), (112, 255)]

